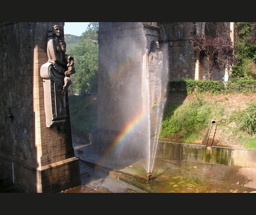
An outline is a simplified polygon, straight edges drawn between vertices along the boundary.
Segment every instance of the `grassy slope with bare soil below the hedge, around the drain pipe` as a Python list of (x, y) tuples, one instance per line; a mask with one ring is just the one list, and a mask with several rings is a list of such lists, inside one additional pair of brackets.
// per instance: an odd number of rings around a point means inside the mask
[[(160, 140), (202, 144), (214, 119), (217, 125), (217, 146), (256, 149), (255, 135), (250, 136), (242, 131), (241, 121), (237, 120), (248, 105), (255, 102), (256, 94), (169, 95), (163, 118), (165, 128), (161, 131)], [(176, 133), (172, 133), (173, 130)]]

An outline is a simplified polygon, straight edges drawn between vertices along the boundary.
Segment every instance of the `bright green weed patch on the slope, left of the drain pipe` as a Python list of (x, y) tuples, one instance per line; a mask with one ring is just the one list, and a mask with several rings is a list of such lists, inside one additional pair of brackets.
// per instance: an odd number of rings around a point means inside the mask
[(224, 114), (223, 106), (206, 101), (200, 95), (195, 100), (182, 103), (174, 111), (170, 111), (170, 107), (173, 106), (176, 104), (166, 104), (160, 140), (172, 140), (176, 137), (182, 137), (181, 141), (184, 143), (199, 140), (205, 134), (203, 128), (208, 128), (212, 119), (222, 118)]

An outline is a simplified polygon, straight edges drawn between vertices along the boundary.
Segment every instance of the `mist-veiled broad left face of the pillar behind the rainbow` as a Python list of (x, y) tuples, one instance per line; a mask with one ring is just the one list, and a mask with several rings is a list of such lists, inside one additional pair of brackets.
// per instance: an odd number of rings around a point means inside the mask
[(115, 148), (125, 152), (123, 157), (136, 157), (133, 149), (140, 147), (141, 152), (148, 141), (148, 127), (142, 125), (149, 110), (147, 58), (151, 41), (158, 39), (158, 27), (99, 23), (98, 36), (98, 122), (93, 146), (101, 153)]

